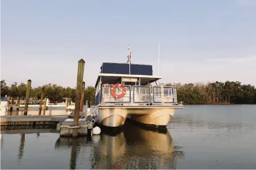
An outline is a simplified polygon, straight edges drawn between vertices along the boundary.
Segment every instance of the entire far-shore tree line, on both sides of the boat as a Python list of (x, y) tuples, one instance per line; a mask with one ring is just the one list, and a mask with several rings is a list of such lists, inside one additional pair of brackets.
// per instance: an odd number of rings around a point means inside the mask
[[(256, 88), (250, 84), (240, 82), (213, 82), (213, 83), (167, 83), (165, 86), (177, 87), (177, 99), (183, 104), (256, 104)], [(64, 97), (76, 99), (76, 88), (61, 87), (57, 84), (45, 84), (31, 88), (30, 96), (40, 99), (42, 87), (45, 96), (53, 102), (61, 101)], [(7, 86), (1, 80), (1, 96), (25, 97), (27, 84), (14, 82)], [(88, 86), (85, 89), (85, 101), (91, 105), (95, 102), (95, 88)]]

